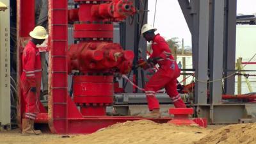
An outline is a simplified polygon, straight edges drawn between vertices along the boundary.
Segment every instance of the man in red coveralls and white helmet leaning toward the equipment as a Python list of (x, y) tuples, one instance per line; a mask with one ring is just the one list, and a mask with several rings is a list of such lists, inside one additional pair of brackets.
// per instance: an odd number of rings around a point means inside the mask
[(150, 113), (145, 117), (159, 118), (161, 113), (159, 111), (159, 102), (156, 99), (156, 92), (165, 88), (167, 94), (172, 99), (175, 108), (186, 108), (183, 100), (177, 92), (177, 77), (180, 76), (180, 69), (174, 60), (170, 47), (159, 34), (155, 35), (157, 29), (149, 24), (145, 24), (141, 29), (141, 35), (148, 41), (152, 42), (152, 56), (146, 61), (139, 61), (139, 65), (143, 68), (153, 67), (159, 65), (159, 70), (154, 74), (148, 83), (145, 85), (145, 93), (147, 96), (148, 109)]

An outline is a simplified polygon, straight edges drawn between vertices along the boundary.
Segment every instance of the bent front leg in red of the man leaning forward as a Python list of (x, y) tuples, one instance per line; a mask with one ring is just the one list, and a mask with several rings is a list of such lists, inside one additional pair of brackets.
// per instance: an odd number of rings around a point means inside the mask
[(153, 109), (159, 109), (159, 102), (156, 99), (156, 92), (161, 88), (164, 88), (164, 85), (167, 84), (169, 81), (170, 77), (164, 76), (164, 70), (159, 69), (145, 85), (148, 109), (150, 111), (152, 111)]

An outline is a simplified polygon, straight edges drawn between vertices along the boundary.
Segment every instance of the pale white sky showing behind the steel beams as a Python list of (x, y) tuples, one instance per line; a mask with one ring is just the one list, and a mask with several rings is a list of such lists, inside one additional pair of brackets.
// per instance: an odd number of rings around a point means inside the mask
[[(153, 24), (156, 0), (148, 0), (148, 23)], [(237, 0), (237, 13), (256, 13), (255, 0)], [(184, 38), (184, 45), (191, 45), (191, 35), (177, 0), (158, 0), (155, 27), (164, 38)]]

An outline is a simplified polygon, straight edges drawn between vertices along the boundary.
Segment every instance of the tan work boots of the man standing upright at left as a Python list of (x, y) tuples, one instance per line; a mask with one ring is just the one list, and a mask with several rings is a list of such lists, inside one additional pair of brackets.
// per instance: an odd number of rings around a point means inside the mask
[(39, 132), (36, 132), (32, 126), (33, 120), (29, 118), (23, 118), (22, 119), (22, 135), (38, 135)]

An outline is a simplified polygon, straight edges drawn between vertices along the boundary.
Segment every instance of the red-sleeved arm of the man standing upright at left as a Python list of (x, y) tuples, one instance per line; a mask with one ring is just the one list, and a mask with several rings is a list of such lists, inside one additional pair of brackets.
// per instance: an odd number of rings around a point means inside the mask
[[(35, 51), (26, 51), (27, 63), (24, 63), (24, 70), (26, 72), (27, 81), (30, 88), (36, 87), (36, 77), (35, 77)], [(33, 90), (32, 90), (33, 91)]]

